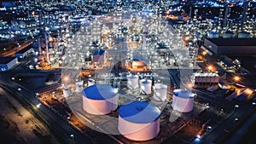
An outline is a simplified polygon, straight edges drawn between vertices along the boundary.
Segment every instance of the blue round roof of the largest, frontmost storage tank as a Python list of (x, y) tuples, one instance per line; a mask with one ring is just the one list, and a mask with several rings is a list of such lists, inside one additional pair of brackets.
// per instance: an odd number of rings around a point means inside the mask
[(120, 107), (119, 116), (131, 123), (147, 124), (160, 118), (160, 109), (148, 102), (134, 101)]

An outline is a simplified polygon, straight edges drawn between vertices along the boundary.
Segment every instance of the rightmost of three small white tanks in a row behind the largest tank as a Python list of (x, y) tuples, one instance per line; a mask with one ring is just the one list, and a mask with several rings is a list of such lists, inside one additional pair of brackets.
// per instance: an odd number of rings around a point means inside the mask
[(167, 95), (167, 85), (166, 84), (154, 84), (154, 100), (165, 101)]

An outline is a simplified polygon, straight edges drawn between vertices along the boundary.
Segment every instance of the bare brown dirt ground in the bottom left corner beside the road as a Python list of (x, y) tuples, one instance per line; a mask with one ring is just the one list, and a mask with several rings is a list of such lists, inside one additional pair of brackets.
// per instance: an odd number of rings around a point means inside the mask
[(60, 144), (44, 124), (2, 88), (0, 135), (1, 141), (8, 144)]

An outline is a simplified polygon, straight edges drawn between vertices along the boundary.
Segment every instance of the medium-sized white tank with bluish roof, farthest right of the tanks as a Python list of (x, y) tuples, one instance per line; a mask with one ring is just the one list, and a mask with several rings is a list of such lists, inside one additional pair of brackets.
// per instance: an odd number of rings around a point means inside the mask
[(175, 89), (172, 96), (172, 108), (178, 112), (193, 110), (195, 94), (188, 89)]

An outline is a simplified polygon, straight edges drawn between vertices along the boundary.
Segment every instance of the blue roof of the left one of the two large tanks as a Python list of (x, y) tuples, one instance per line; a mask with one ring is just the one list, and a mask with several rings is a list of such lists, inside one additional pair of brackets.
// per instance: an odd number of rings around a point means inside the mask
[(116, 94), (117, 90), (107, 84), (91, 85), (83, 90), (83, 95), (92, 100), (106, 100)]

